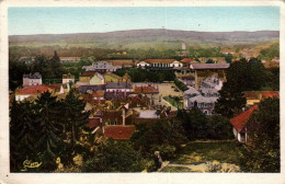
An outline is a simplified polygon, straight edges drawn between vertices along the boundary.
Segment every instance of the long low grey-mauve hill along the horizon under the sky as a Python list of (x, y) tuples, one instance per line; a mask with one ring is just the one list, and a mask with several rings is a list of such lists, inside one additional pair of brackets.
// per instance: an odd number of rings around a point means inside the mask
[(9, 36), (10, 46), (159, 48), (179, 49), (184, 42), (193, 46), (230, 46), (256, 44), (280, 38), (278, 31), (258, 32), (194, 32), (176, 30), (133, 30), (107, 33), (43, 34)]

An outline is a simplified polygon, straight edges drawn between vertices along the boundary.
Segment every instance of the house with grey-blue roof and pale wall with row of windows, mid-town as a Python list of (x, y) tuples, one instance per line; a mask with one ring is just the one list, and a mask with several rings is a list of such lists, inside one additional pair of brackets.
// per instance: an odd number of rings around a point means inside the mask
[(109, 82), (105, 84), (105, 99), (126, 99), (133, 92), (133, 87), (127, 82)]

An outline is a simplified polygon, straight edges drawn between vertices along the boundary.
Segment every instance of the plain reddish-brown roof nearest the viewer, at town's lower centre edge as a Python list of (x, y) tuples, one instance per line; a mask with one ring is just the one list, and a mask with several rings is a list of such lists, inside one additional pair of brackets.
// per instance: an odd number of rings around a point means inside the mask
[(135, 131), (135, 126), (106, 126), (104, 136), (106, 138), (125, 140), (129, 139)]

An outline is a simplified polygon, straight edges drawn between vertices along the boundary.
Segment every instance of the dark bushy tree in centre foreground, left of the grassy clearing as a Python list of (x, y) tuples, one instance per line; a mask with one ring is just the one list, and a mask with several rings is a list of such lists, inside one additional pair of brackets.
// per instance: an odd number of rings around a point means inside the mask
[(186, 140), (181, 123), (175, 119), (161, 119), (152, 125), (138, 124), (130, 138), (136, 150), (146, 157), (160, 151), (161, 157), (171, 159), (181, 150)]

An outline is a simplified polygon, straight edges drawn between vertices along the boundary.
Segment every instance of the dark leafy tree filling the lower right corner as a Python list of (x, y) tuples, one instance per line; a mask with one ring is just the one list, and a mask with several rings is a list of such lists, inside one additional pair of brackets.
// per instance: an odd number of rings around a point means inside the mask
[(241, 159), (250, 172), (280, 172), (280, 99), (265, 99), (248, 122), (248, 149)]

